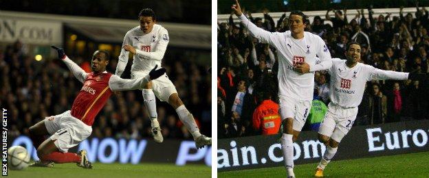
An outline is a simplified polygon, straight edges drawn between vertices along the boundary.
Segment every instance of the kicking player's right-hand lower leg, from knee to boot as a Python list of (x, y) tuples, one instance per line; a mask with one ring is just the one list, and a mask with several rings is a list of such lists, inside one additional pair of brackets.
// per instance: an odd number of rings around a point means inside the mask
[(168, 97), (168, 103), (176, 110), (181, 122), (184, 123), (186, 129), (188, 129), (188, 131), (192, 134), (197, 148), (212, 144), (211, 138), (203, 136), (201, 133), (199, 133), (199, 128), (197, 123), (195, 123), (194, 116), (192, 116), (188, 109), (186, 109), (177, 92), (170, 94), (170, 97)]

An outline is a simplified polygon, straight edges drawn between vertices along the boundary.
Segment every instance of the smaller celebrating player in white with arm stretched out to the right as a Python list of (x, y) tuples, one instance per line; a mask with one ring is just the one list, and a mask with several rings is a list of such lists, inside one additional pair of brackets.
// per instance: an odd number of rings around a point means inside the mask
[(327, 149), (316, 168), (316, 177), (323, 177), (323, 169), (336, 154), (338, 144), (350, 131), (358, 114), (358, 105), (362, 101), (366, 81), (395, 79), (422, 80), (425, 74), (383, 71), (360, 63), (360, 45), (357, 42), (347, 44), (347, 60), (332, 59), (328, 69), (331, 75), (329, 97), (331, 103), (319, 127), (318, 139), (327, 145)]

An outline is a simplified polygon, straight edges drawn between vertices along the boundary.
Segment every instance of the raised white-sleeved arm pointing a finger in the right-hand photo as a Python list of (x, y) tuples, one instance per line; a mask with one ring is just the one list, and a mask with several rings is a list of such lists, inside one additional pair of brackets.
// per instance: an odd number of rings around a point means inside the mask
[(274, 46), (277, 41), (275, 36), (278, 33), (272, 33), (270, 31), (265, 31), (264, 29), (256, 27), (256, 25), (250, 22), (243, 12), (241, 12), (239, 1), (236, 0), (235, 3), (236, 4), (232, 5), (232, 10), (234, 10), (234, 14), (240, 18), (243, 27), (247, 28), (255, 38), (258, 38), (262, 42), (269, 43)]

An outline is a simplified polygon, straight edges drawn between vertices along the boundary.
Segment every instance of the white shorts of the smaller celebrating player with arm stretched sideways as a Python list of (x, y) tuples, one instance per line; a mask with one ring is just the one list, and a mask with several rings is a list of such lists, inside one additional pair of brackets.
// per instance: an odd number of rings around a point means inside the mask
[(331, 102), (325, 118), (320, 123), (319, 133), (336, 142), (341, 142), (342, 138), (349, 133), (357, 115), (358, 107), (341, 107)]

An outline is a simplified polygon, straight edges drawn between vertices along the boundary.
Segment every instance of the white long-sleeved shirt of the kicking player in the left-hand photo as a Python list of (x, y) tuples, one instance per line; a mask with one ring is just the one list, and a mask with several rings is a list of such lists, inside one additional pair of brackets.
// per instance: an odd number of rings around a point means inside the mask
[[(152, 31), (148, 34), (144, 34), (140, 26), (126, 32), (122, 47), (125, 44), (129, 44), (136, 51), (133, 56), (131, 73), (135, 71), (151, 71), (155, 65), (161, 67), (161, 60), (164, 58), (169, 40), (168, 31), (157, 24), (153, 25)], [(115, 75), (122, 75), (128, 62), (128, 56), (129, 52), (122, 48)]]

